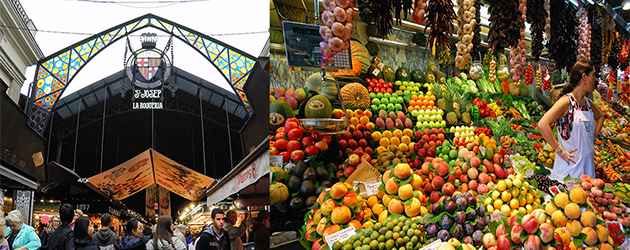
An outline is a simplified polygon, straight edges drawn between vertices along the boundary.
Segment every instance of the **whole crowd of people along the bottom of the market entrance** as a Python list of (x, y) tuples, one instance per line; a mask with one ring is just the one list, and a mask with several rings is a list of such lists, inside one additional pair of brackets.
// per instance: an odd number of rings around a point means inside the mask
[(112, 216), (101, 216), (101, 228), (84, 217), (71, 204), (59, 208), (59, 216), (52, 216), (48, 227), (40, 230), (22, 222), (18, 210), (6, 218), (0, 213), (0, 250), (243, 250), (241, 238), (253, 235), (254, 249), (269, 249), (269, 212), (258, 213), (258, 222), (249, 225), (249, 213), (238, 223), (234, 210), (212, 211), (212, 224), (192, 234), (190, 227), (174, 225), (170, 215), (158, 217), (153, 226), (138, 219), (130, 219), (122, 236), (112, 227)]

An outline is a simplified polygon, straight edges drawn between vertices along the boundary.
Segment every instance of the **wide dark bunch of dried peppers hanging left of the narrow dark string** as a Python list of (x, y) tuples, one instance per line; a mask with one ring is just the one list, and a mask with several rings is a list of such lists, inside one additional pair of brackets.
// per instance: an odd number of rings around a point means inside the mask
[(486, 3), (490, 5), (488, 44), (495, 52), (503, 53), (506, 47), (518, 45), (521, 28), (525, 27), (521, 12), (518, 10), (518, 2), (488, 0)]

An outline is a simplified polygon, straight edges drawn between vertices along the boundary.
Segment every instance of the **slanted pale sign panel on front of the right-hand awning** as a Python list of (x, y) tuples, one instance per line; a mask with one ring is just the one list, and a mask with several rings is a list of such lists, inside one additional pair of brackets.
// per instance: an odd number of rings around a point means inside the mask
[[(266, 153), (260, 154), (256, 160), (237, 171), (238, 173), (233, 178), (221, 180), (221, 187), (208, 194), (207, 204), (215, 204), (222, 201), (269, 173), (269, 150), (266, 150)], [(230, 175), (228, 174), (228, 176)]]

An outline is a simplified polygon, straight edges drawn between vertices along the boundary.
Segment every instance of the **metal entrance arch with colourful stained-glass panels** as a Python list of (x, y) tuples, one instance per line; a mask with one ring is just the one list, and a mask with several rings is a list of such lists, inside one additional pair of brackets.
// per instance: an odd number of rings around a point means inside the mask
[(244, 87), (256, 62), (255, 57), (193, 29), (146, 14), (39, 60), (28, 99), (28, 126), (43, 135), (56, 101), (79, 71), (109, 45), (148, 27), (169, 33), (197, 50), (230, 83), (249, 115), (253, 114)]

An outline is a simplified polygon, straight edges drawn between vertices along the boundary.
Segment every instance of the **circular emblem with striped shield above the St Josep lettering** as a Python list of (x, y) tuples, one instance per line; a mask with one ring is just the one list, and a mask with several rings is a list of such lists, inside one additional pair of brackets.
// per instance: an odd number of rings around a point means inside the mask
[(157, 48), (142, 48), (132, 52), (125, 62), (125, 72), (134, 85), (151, 89), (162, 86), (171, 75), (171, 60)]

